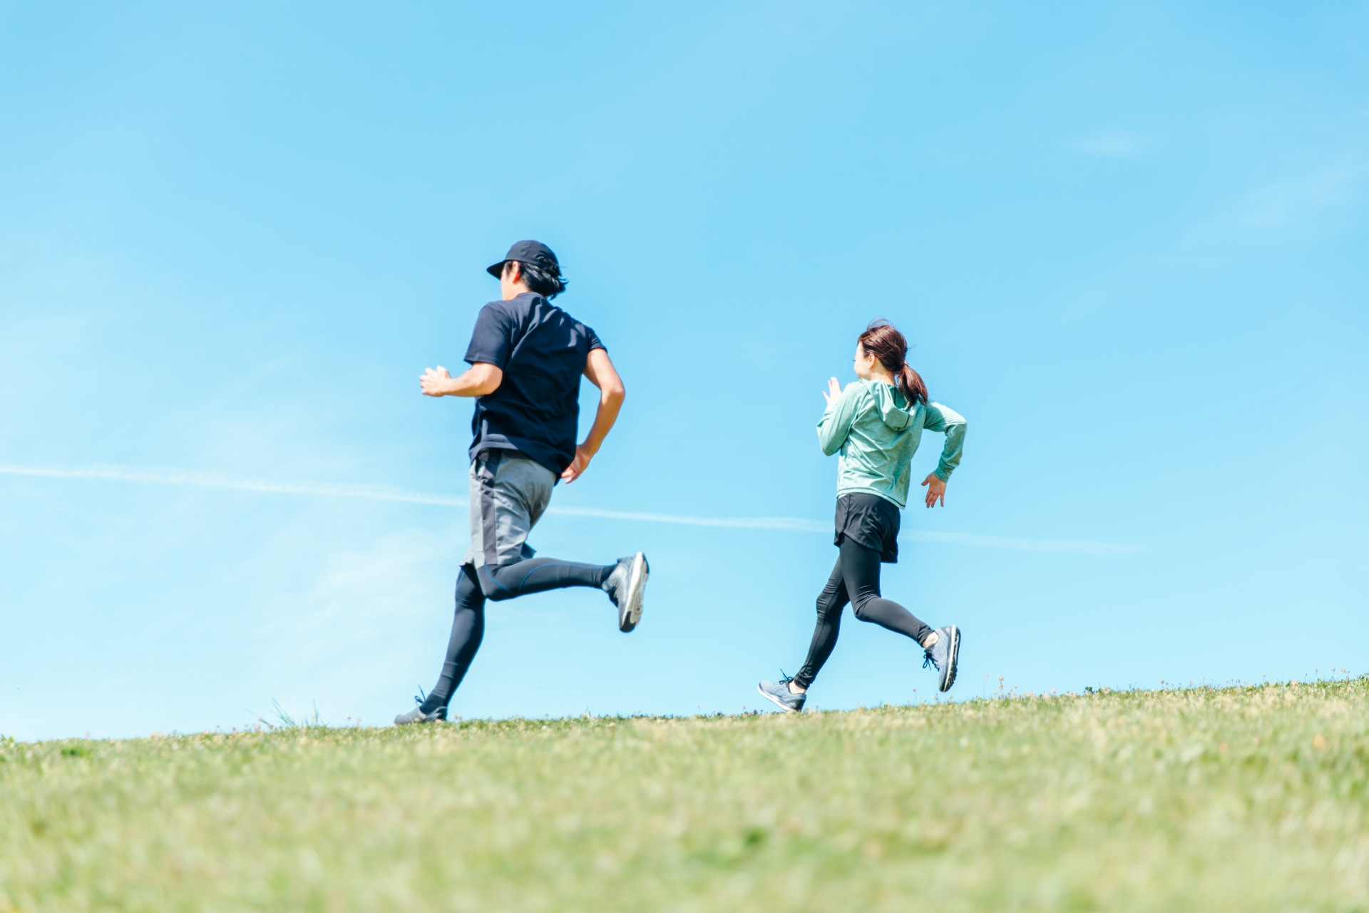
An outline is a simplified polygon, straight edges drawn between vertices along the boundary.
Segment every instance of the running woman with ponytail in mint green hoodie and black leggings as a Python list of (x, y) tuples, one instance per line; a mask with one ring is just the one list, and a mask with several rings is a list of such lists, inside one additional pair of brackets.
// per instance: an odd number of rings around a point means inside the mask
[(932, 630), (912, 612), (879, 594), (879, 564), (898, 561), (898, 512), (908, 504), (913, 453), (923, 428), (943, 431), (946, 446), (936, 471), (923, 479), (927, 506), (946, 505), (946, 480), (960, 465), (965, 419), (927, 400), (927, 385), (905, 356), (908, 341), (887, 320), (875, 320), (856, 344), (858, 383), (842, 390), (827, 382), (827, 409), (817, 423), (823, 453), (841, 452), (836, 461), (836, 537), (841, 548), (832, 576), (817, 597), (817, 628), (798, 675), (761, 682), (757, 690), (790, 713), (804, 709), (806, 691), (836, 646), (842, 609), (916, 641), (939, 673), (938, 689), (956, 683), (960, 628)]

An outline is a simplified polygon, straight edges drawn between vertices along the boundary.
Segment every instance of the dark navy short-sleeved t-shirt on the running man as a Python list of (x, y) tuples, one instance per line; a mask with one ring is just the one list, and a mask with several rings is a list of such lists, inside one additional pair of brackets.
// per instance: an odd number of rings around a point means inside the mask
[(580, 375), (590, 349), (602, 348), (594, 330), (531, 292), (481, 308), (465, 360), (498, 367), (504, 381), (475, 400), (471, 459), (520, 450), (561, 475), (575, 460)]

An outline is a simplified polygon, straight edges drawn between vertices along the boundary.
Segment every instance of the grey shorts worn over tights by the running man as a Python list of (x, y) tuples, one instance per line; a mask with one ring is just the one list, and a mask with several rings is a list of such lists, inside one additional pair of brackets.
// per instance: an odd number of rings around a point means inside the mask
[(550, 470), (517, 450), (482, 450), (471, 463), (471, 550), (461, 564), (498, 568), (533, 557), (527, 534), (554, 485)]

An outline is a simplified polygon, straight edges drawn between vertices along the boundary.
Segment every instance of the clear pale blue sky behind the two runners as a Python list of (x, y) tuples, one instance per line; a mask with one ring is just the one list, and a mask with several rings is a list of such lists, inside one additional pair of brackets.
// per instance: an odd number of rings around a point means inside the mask
[[(411, 706), (471, 409), (418, 375), (527, 237), (628, 389), (533, 542), (653, 575), (627, 636), (491, 606), (453, 713), (795, 671), (820, 390), (876, 316), (969, 420), (884, 574), (964, 628), (953, 697), (1369, 671), (1366, 40), (1365, 3), (0, 3), (0, 732)], [(812, 704), (932, 698), (847, 619)]]

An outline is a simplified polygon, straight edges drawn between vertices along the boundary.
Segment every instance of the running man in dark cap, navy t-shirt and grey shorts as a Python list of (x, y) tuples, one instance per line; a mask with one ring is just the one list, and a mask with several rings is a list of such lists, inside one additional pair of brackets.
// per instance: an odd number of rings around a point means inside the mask
[[(456, 580), (456, 617), (433, 691), (396, 725), (446, 719), (446, 706), (485, 634), (485, 601), (568, 586), (600, 587), (617, 606), (617, 627), (642, 617), (649, 572), (638, 552), (616, 564), (535, 558), (527, 535), (546, 512), (557, 480), (574, 482), (598, 453), (623, 405), (623, 382), (604, 344), (552, 298), (565, 290), (545, 244), (519, 241), (489, 274), (502, 298), (481, 309), (465, 350), (471, 368), (453, 378), (427, 368), (423, 396), (475, 397), (471, 419), (471, 549)], [(594, 426), (579, 445), (580, 375), (600, 390)]]

